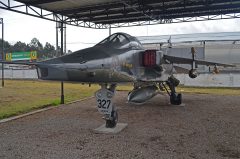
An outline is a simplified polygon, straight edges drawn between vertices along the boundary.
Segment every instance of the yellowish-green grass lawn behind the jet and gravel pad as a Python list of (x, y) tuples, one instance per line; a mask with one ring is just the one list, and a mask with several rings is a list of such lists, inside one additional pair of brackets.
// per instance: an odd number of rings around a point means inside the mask
[[(5, 87), (0, 88), (0, 119), (29, 112), (34, 109), (60, 104), (60, 82), (6, 80)], [(100, 87), (79, 83), (65, 83), (65, 102), (93, 96)], [(120, 85), (118, 90), (130, 91), (132, 86)], [(240, 95), (238, 88), (203, 88), (178, 87), (182, 93), (204, 93), (218, 95)]]

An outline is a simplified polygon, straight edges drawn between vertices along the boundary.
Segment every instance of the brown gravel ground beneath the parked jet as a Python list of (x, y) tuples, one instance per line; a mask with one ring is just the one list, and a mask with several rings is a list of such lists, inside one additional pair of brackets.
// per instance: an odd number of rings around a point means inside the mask
[(239, 96), (184, 94), (184, 107), (157, 96), (144, 105), (117, 92), (119, 134), (103, 124), (95, 99), (0, 124), (0, 158), (240, 158)]

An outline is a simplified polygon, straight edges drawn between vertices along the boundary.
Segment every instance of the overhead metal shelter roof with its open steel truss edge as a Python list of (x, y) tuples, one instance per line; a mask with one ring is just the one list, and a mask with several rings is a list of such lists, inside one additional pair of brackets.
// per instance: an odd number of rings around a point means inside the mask
[(0, 0), (0, 8), (86, 28), (240, 18), (240, 0)]

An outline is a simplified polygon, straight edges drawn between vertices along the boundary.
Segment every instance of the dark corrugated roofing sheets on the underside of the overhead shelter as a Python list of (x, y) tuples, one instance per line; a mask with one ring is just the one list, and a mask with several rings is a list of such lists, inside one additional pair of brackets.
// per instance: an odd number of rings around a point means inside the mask
[[(142, 21), (171, 23), (172, 19), (240, 13), (240, 0), (16, 0), (70, 21), (116, 24)], [(189, 18), (190, 17), (190, 18)], [(237, 18), (238, 16), (235, 16)], [(207, 18), (205, 20), (209, 20)], [(149, 23), (151, 24), (151, 23)], [(138, 24), (140, 25), (140, 24)], [(146, 24), (145, 24), (146, 25)]]

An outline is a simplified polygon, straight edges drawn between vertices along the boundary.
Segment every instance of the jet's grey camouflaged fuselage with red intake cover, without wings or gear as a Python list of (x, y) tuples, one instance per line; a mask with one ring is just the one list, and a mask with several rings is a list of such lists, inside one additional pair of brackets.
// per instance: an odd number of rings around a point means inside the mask
[(145, 50), (137, 39), (125, 34), (117, 36), (123, 39), (122, 43), (100, 42), (91, 48), (39, 63), (39, 78), (83, 83), (123, 83), (166, 81), (172, 74), (173, 66), (164, 65), (161, 60), (162, 52)]

